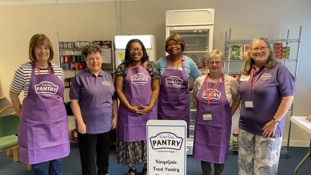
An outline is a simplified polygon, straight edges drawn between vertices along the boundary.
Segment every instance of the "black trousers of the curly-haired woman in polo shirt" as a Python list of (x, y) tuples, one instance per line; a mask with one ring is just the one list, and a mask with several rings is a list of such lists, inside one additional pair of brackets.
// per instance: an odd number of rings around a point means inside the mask
[(82, 175), (107, 175), (109, 166), (110, 132), (81, 134), (78, 132), (78, 145)]

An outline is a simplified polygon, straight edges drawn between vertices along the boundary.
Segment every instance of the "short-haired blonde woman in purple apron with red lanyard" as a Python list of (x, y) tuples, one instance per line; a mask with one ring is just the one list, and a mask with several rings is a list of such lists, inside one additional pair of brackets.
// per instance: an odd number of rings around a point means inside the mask
[(193, 158), (201, 160), (203, 175), (222, 175), (231, 133), (232, 115), (240, 105), (237, 80), (222, 73), (224, 55), (214, 50), (207, 56), (209, 73), (197, 78), (193, 85), (193, 103), (197, 107)]

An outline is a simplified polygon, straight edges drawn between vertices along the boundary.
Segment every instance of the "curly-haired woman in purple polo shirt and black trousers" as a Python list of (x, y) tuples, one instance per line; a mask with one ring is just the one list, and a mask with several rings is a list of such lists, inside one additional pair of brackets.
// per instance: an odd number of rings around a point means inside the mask
[(117, 126), (118, 100), (113, 79), (101, 70), (103, 50), (87, 44), (82, 50), (87, 68), (73, 77), (69, 91), (76, 119), (83, 175), (108, 175), (109, 132)]

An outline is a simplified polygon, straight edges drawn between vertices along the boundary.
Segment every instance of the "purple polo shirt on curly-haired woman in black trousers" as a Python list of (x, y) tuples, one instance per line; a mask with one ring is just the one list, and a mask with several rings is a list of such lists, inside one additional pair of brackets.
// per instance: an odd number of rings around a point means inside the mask
[(103, 70), (96, 77), (88, 68), (73, 77), (70, 100), (79, 100), (86, 133), (110, 131), (112, 100), (117, 100), (111, 75)]

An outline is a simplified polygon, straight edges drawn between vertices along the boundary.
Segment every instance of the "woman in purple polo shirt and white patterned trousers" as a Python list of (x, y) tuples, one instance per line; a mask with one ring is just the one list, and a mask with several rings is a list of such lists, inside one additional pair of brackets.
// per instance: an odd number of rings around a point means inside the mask
[(276, 175), (294, 76), (273, 57), (268, 39), (250, 45), (239, 80), (239, 175)]

